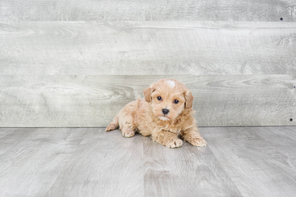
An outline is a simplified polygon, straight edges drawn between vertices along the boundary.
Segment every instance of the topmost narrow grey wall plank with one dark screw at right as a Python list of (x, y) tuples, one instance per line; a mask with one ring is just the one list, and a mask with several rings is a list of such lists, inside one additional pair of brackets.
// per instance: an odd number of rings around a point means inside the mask
[(290, 0), (2, 0), (0, 21), (295, 21), (295, 10)]

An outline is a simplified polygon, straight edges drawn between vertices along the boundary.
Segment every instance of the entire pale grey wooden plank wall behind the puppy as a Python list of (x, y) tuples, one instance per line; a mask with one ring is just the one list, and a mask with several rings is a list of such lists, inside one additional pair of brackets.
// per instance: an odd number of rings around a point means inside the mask
[(1, 127), (104, 127), (161, 78), (199, 126), (296, 125), (295, 66), (294, 1), (0, 3)]

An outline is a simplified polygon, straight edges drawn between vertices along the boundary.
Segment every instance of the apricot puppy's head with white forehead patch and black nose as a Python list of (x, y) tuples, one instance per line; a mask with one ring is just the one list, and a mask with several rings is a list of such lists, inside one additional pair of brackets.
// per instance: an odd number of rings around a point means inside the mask
[(193, 96), (185, 84), (174, 79), (161, 79), (143, 90), (146, 102), (161, 120), (174, 120), (192, 107)]

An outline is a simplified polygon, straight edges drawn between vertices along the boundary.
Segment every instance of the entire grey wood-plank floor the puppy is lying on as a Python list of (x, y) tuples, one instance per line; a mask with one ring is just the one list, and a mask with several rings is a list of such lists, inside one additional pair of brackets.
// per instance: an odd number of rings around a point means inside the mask
[(0, 196), (295, 196), (296, 126), (201, 127), (169, 149), (104, 128), (0, 128)]

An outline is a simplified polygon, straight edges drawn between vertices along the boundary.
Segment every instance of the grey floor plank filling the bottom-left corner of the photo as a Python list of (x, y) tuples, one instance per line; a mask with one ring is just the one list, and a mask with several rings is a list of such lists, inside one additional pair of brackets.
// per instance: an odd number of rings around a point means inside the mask
[(9, 132), (18, 143), (11, 143), (9, 147), (0, 144), (0, 149), (9, 148), (0, 155), (0, 195), (44, 196), (78, 148), (85, 131), (26, 128)]

